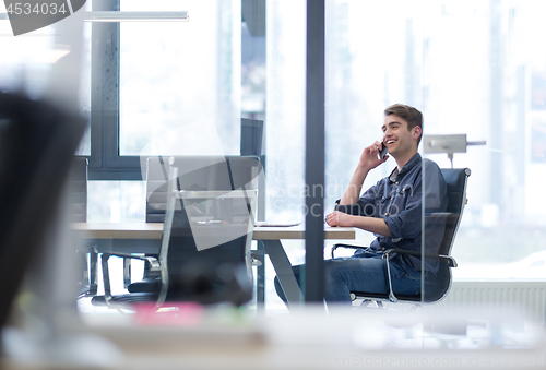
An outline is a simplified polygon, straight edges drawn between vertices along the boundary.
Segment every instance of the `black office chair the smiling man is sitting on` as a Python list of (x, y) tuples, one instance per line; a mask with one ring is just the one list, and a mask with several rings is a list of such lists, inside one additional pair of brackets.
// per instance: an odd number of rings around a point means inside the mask
[[(361, 298), (364, 299), (363, 303), (375, 301), (378, 307), (382, 307), (382, 301), (408, 302), (416, 305), (420, 302), (438, 302), (446, 297), (451, 286), (451, 268), (456, 267), (456, 261), (451, 256), (451, 249), (453, 247), (459, 224), (461, 223), (464, 205), (466, 204), (466, 182), (467, 178), (471, 176), (471, 170), (468, 168), (442, 168), (441, 172), (448, 186), (448, 208), (444, 213), (432, 213), (425, 216), (425, 222), (427, 222), (427, 217), (435, 217), (435, 220), (443, 218), (446, 225), (439, 253), (425, 254), (425, 258), (427, 259), (439, 260), (439, 270), (436, 274), (436, 278), (425, 278), (425, 291), (423, 295), (395, 295), (392, 290), (391, 276), (389, 275), (389, 291), (380, 294), (352, 291), (354, 299)], [(335, 244), (332, 248), (332, 259), (334, 258), (334, 252), (337, 248), (364, 249), (364, 247), (358, 246)], [(387, 264), (385, 271), (389, 271), (389, 255), (392, 253), (416, 256), (422, 255), (422, 253), (417, 251), (389, 249), (383, 253), (383, 260)]]

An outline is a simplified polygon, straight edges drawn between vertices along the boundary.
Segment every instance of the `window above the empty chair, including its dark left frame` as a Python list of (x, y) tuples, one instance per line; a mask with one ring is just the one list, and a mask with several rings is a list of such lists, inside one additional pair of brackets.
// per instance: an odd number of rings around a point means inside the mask
[(92, 179), (141, 180), (141, 156), (238, 153), (240, 2), (93, 9), (188, 11), (190, 21), (93, 24)]

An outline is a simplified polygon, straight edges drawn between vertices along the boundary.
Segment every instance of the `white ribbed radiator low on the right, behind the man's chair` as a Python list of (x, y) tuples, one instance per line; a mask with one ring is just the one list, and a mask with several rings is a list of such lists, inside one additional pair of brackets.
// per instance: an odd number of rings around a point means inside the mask
[(544, 324), (546, 281), (454, 281), (435, 309), (513, 309), (525, 319)]

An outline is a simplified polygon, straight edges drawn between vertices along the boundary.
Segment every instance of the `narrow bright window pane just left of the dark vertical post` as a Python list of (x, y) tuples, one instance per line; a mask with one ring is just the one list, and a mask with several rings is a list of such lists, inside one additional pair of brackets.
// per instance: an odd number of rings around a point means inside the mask
[(306, 1), (266, 3), (266, 216), (302, 222)]

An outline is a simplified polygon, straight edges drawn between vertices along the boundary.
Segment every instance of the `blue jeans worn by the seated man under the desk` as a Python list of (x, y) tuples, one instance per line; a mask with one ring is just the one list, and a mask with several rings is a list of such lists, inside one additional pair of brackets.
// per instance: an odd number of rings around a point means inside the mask
[[(378, 253), (361, 253), (351, 258), (324, 261), (327, 302), (351, 302), (351, 291), (387, 293), (387, 263)], [(389, 261), (394, 294), (417, 295), (420, 293), (420, 271), (414, 271), (402, 256)], [(298, 284), (304, 265), (292, 267)], [(275, 277), (275, 290), (286, 301), (284, 291)]]

